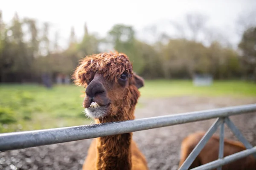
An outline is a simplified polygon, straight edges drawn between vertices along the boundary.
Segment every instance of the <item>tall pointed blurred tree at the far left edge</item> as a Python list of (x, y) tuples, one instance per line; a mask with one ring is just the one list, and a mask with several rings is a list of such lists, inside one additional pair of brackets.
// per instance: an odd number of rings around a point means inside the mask
[[(2, 81), (24, 81), (31, 72), (33, 58), (28, 55), (26, 43), (23, 41), (23, 23), (17, 13), (6, 32), (3, 48), (3, 75)], [(19, 75), (19, 76), (15, 76)], [(29, 74), (30, 75), (30, 74)]]

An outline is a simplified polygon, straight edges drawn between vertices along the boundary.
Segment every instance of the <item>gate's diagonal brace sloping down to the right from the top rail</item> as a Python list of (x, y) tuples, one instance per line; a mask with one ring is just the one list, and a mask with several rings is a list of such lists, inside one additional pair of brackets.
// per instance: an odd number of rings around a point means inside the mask
[[(236, 125), (233, 124), (233, 122), (226, 117), (225, 122), (227, 126), (230, 128), (230, 130), (234, 133), (234, 135), (237, 137), (237, 139), (244, 144), (244, 146), (247, 149), (252, 148), (253, 146), (244, 138), (243, 134), (240, 132), (240, 130), (236, 127)], [(256, 154), (253, 154), (253, 156), (256, 158)]]

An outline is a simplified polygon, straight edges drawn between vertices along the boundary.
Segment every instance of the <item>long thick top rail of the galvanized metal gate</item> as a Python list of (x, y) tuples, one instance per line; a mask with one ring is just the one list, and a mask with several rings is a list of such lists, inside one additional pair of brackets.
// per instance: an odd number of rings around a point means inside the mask
[(130, 133), (158, 127), (196, 122), (256, 111), (256, 104), (196, 111), (168, 116), (158, 116), (122, 122), (32, 130), (0, 134), (0, 151), (22, 149), (47, 144), (71, 142), (101, 136)]

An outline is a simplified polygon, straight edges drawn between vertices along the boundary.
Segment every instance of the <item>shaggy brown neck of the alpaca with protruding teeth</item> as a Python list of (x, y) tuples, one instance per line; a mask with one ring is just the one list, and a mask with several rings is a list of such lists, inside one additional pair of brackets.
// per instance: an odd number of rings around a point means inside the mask
[[(97, 123), (116, 122), (134, 119), (134, 108), (118, 111), (118, 116), (108, 117)], [(97, 170), (131, 170), (132, 133), (105, 136), (97, 141)]]

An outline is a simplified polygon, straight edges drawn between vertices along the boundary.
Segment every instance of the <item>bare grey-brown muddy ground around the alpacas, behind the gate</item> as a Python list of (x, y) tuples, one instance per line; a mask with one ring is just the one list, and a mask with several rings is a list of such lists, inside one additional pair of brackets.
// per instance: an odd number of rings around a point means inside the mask
[[(255, 98), (172, 97), (140, 99), (142, 108), (136, 118), (200, 111), (212, 108), (256, 103)], [(256, 114), (231, 116), (246, 139), (256, 145)], [(189, 133), (207, 130), (214, 119), (134, 132), (134, 140), (146, 156), (150, 170), (177, 170), (180, 144)], [(217, 131), (218, 133), (218, 131)], [(225, 127), (225, 137), (236, 139)], [(0, 153), (0, 170), (79, 170), (91, 139)]]

